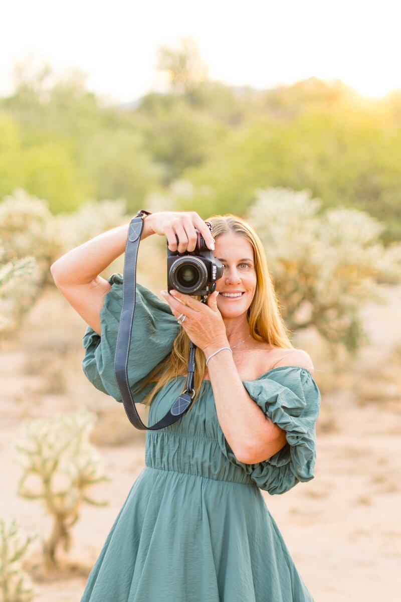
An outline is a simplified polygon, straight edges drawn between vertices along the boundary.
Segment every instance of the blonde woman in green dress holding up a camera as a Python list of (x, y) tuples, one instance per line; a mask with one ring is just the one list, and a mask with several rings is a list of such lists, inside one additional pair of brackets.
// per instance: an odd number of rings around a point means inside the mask
[[(163, 291), (165, 303), (136, 285), (133, 399), (150, 404), (149, 425), (164, 417), (185, 388), (190, 340), (196, 396), (176, 423), (147, 430), (145, 468), (81, 602), (313, 600), (260, 493), (313, 478), (320, 395), (312, 362), (289, 341), (257, 234), (231, 214), (209, 222), (215, 240), (194, 212), (144, 219), (141, 238), (165, 236), (172, 251), (193, 251), (197, 228), (224, 274), (207, 305), (174, 290)], [(127, 229), (105, 232), (52, 265), (61, 293), (89, 325), (84, 372), (119, 401), (123, 278), (107, 282), (99, 273), (124, 252)]]

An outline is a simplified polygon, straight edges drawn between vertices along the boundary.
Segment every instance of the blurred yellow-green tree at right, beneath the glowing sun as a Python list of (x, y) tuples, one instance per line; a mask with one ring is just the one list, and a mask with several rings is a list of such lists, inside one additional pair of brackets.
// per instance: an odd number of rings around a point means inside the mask
[(308, 189), (322, 206), (367, 211), (386, 222), (382, 240), (399, 240), (401, 126), (396, 111), (385, 116), (381, 105), (349, 95), (323, 97), (318, 103), (317, 93), (301, 100), (295, 93), (288, 93), (289, 99), (277, 94), (282, 113), (272, 108), (269, 95), (265, 108), (261, 99), (257, 110), (253, 102), (242, 121), (215, 141), (206, 160), (189, 166), (180, 178), (210, 187), (209, 213), (216, 207), (220, 213), (244, 213), (258, 188)]

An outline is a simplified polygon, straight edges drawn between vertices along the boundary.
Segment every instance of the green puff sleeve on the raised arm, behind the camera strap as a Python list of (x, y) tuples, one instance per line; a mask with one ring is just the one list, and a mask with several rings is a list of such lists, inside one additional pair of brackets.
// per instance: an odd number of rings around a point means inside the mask
[[(106, 294), (100, 311), (102, 336), (90, 326), (87, 327), (83, 339), (85, 355), (82, 369), (99, 391), (122, 402), (114, 374), (114, 355), (123, 301), (123, 276), (113, 274), (108, 282), (112, 287)], [(127, 368), (131, 391), (170, 353), (179, 328), (170, 306), (148, 288), (136, 283), (135, 314)], [(148, 383), (142, 391), (133, 394), (134, 401), (141, 403), (152, 388), (153, 384)]]

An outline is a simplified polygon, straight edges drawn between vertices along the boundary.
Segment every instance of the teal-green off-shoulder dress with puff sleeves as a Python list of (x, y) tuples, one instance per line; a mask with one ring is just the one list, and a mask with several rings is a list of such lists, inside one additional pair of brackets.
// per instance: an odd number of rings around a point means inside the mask
[[(121, 402), (114, 352), (123, 278), (114, 274), (109, 282), (100, 313), (102, 337), (87, 328), (82, 367), (97, 389)], [(179, 328), (170, 306), (137, 284), (130, 386), (138, 386), (170, 352)], [(145, 467), (81, 602), (313, 602), (260, 489), (281, 494), (313, 479), (319, 389), (311, 373), (298, 366), (273, 368), (242, 383), (286, 430), (287, 444), (266, 461), (239, 462), (219, 426), (212, 385), (204, 380), (180, 420), (146, 432)], [(135, 402), (152, 386), (136, 394)], [(159, 391), (148, 424), (167, 413), (184, 387), (182, 376)]]

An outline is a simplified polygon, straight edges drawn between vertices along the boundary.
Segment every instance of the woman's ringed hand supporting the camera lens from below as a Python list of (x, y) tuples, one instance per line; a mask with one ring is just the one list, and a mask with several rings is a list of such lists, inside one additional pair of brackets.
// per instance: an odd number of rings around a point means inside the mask
[(176, 319), (180, 314), (186, 315), (182, 327), (192, 343), (205, 355), (213, 353), (218, 347), (228, 346), (224, 321), (217, 308), (217, 291), (207, 297), (207, 305), (174, 289), (170, 291), (171, 294), (167, 291), (161, 293)]

